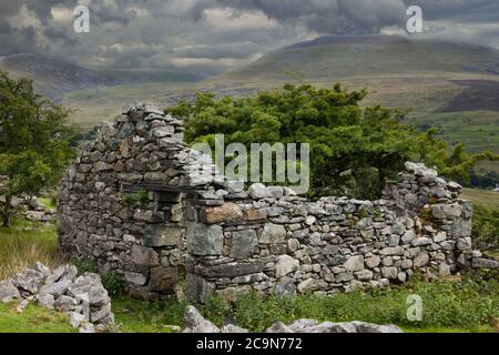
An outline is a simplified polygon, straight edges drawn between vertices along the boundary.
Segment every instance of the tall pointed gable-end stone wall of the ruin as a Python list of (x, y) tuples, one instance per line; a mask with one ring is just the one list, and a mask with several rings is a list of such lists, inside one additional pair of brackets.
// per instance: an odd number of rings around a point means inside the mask
[(136, 296), (173, 293), (184, 263), (183, 201), (206, 183), (193, 172), (211, 168), (182, 139), (177, 120), (145, 104), (104, 123), (59, 190), (63, 253), (116, 272)]

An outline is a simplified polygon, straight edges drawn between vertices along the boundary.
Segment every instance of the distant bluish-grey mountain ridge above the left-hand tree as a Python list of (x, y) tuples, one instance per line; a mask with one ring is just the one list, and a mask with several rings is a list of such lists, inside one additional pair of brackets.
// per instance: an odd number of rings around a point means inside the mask
[(150, 82), (194, 82), (201, 74), (175, 69), (88, 69), (78, 64), (33, 53), (0, 58), (0, 69), (12, 77), (33, 80), (40, 93), (60, 101), (64, 94), (96, 88)]

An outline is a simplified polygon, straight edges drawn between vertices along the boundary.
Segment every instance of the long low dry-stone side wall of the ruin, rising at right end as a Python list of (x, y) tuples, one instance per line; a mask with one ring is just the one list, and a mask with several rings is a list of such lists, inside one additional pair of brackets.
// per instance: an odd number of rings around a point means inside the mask
[(461, 186), (424, 165), (406, 168), (379, 201), (310, 202), (255, 184), (248, 199), (198, 206), (197, 229), (216, 237), (187, 239), (190, 298), (231, 298), (244, 290), (332, 294), (403, 283), (415, 272), (446, 276), (485, 262), (471, 250), (472, 206), (459, 200)]

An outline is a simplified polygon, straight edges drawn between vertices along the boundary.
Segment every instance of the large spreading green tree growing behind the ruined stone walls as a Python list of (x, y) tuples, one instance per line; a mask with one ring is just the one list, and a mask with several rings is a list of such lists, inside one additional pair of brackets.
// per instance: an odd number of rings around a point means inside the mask
[[(305, 84), (259, 92), (244, 98), (215, 99), (200, 93), (194, 104), (182, 101), (169, 108), (185, 120), (190, 143), (309, 143), (312, 195), (379, 196), (386, 179), (393, 179), (406, 161), (437, 166), (444, 175), (469, 179), (479, 160), (497, 160), (491, 153), (466, 154), (462, 145), (451, 151), (438, 131), (420, 132), (401, 123), (404, 112), (379, 105), (363, 109), (367, 91), (317, 89)], [(450, 153), (449, 153), (450, 152)]]

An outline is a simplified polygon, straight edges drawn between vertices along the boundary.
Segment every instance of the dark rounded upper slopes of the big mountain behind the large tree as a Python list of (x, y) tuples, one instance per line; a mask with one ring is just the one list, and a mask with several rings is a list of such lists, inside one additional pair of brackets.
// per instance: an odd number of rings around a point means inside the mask
[(488, 47), (401, 36), (326, 36), (271, 52), (211, 81), (268, 82), (403, 73), (475, 73), (499, 78), (499, 51)]

